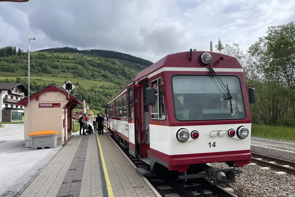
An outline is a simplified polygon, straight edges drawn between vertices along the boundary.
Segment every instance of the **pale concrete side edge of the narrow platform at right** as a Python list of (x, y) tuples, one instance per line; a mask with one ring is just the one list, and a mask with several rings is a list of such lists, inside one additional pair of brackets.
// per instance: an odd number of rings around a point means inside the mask
[(274, 149), (274, 148), (267, 148), (267, 147), (263, 147), (263, 146), (256, 146), (256, 145), (251, 145), (250, 150), (251, 150), (251, 152), (254, 152), (254, 153), (272, 156), (272, 157), (276, 157), (279, 159), (286, 159), (286, 160), (295, 162), (295, 153), (294, 152), (283, 151), (283, 150), (278, 150), (278, 149)]

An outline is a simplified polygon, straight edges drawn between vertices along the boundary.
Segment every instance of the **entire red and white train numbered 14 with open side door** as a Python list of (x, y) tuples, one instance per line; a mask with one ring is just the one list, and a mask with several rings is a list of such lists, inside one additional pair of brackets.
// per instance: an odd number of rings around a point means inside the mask
[[(137, 169), (142, 174), (164, 166), (180, 179), (232, 183), (238, 167), (250, 163), (254, 102), (255, 89), (245, 85), (235, 57), (190, 50), (160, 59), (110, 99), (107, 129), (147, 164)], [(229, 168), (212, 168), (213, 162)]]

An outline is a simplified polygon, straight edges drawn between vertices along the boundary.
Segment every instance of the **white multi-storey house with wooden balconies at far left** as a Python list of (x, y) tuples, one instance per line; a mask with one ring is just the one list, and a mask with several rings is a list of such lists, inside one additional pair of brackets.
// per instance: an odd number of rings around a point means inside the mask
[(28, 94), (22, 83), (0, 83), (0, 122), (24, 121), (24, 106), (16, 103)]

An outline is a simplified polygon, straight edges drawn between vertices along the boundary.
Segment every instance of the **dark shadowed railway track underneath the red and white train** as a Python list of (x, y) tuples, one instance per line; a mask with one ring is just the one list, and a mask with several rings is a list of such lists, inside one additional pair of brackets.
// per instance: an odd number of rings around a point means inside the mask
[[(106, 128), (106, 125), (104, 125)], [(115, 143), (124, 151), (124, 153), (131, 158), (128, 154), (128, 149), (121, 146), (121, 144), (110, 135)], [(132, 162), (138, 167), (142, 165), (137, 159), (132, 159)], [(224, 188), (218, 185), (211, 185), (211, 182), (206, 178), (190, 179), (187, 182), (179, 180), (175, 177), (170, 177), (170, 175), (158, 175), (150, 174), (146, 175), (146, 178), (155, 187), (155, 189), (163, 197), (196, 197), (196, 196), (214, 196), (214, 197), (237, 197), (235, 194), (228, 192)]]

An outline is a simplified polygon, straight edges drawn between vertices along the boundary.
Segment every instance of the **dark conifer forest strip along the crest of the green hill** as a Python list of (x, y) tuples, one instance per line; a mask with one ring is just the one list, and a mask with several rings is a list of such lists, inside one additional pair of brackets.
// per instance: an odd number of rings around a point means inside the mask
[(108, 50), (99, 50), (99, 49), (89, 49), (89, 50), (78, 50), (77, 48), (73, 47), (62, 47), (62, 48), (51, 48), (51, 49), (43, 49), (37, 52), (50, 52), (53, 53), (78, 53), (83, 55), (88, 55), (90, 57), (105, 57), (105, 58), (113, 58), (113, 59), (122, 59), (128, 62), (133, 62), (136, 64), (140, 64), (143, 66), (150, 66), (153, 62), (142, 59), (140, 57), (135, 57), (129, 54), (120, 53), (117, 51), (108, 51)]

